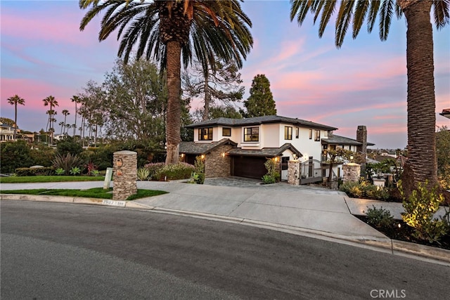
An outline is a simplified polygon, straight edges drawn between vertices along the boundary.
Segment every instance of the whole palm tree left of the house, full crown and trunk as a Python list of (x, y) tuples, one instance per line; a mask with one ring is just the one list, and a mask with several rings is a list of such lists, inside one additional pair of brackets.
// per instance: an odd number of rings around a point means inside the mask
[[(206, 70), (214, 67), (212, 58), (236, 61), (242, 67), (253, 39), (251, 21), (238, 0), (200, 1), (115, 1), (80, 0), (79, 7), (91, 8), (84, 15), (80, 30), (103, 9), (100, 41), (119, 29), (122, 36), (118, 56), (127, 62), (131, 51), (136, 57), (153, 56), (166, 70), (168, 103), (166, 119), (166, 164), (179, 160), (181, 127), (181, 60), (184, 67), (195, 56)], [(125, 30), (125, 31), (124, 31)], [(137, 44), (137, 47), (134, 47)]]

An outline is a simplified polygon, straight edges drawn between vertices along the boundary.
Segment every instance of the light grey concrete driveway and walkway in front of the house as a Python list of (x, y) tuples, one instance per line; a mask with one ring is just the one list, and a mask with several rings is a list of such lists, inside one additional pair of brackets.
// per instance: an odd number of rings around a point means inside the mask
[[(204, 185), (138, 181), (138, 188), (165, 190), (169, 193), (127, 202), (127, 207), (259, 226), (336, 242), (357, 243), (360, 246), (363, 244), (364, 247), (376, 247), (378, 250), (384, 249), (385, 252), (390, 253), (401, 251), (437, 259), (442, 259), (441, 256), (444, 256), (444, 260), (446, 258), (446, 261), (450, 263), (450, 252), (444, 251), (443, 254), (431, 255), (425, 253), (428, 251), (422, 249), (423, 246), (419, 247), (416, 244), (414, 247), (417, 246), (418, 249), (404, 249), (406, 246), (402, 245), (403, 242), (390, 240), (378, 230), (352, 215), (364, 214), (362, 210), (367, 210), (367, 207), (375, 205), (375, 207), (383, 206), (383, 208), (390, 209), (394, 216), (399, 216), (402, 209), (401, 203), (354, 200), (347, 197), (345, 193), (314, 186), (293, 186), (287, 183), (259, 185), (257, 182), (252, 183), (251, 180), (240, 182), (226, 181), (227, 179), (230, 178), (207, 180), (207, 184)], [(0, 185), (0, 189), (84, 189), (102, 186), (103, 182), (101, 181), (4, 183)], [(21, 197), (21, 200), (31, 200), (30, 197), (37, 201), (39, 201), (39, 197), (46, 197), (47, 200), (49, 198), (49, 196), (27, 196)], [(7, 195), (1, 197), (2, 200), (11, 198)], [(58, 198), (60, 198), (60, 202), (78, 202), (62, 199), (68, 197)], [(46, 199), (41, 201), (47, 201)], [(51, 201), (55, 200), (53, 198)], [(101, 204), (98, 200), (92, 202), (92, 204)], [(388, 205), (390, 206), (388, 207)], [(432, 252), (435, 252), (434, 248)]]

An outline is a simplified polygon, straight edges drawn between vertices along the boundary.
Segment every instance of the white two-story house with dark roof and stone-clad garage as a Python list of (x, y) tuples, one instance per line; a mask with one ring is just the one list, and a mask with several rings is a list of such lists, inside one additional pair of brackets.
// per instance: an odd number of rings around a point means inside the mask
[[(287, 180), (288, 161), (302, 162), (302, 183), (328, 176), (326, 150), (342, 147), (356, 152), (366, 145), (333, 134), (337, 128), (303, 119), (263, 116), (246, 119), (217, 118), (186, 126), (194, 130), (193, 142), (181, 142), (181, 161), (205, 161), (205, 177), (262, 178), (267, 159), (278, 162), (281, 180)], [(365, 126), (364, 126), (365, 128)], [(371, 144), (373, 145), (373, 144)], [(333, 166), (340, 177), (340, 166)]]

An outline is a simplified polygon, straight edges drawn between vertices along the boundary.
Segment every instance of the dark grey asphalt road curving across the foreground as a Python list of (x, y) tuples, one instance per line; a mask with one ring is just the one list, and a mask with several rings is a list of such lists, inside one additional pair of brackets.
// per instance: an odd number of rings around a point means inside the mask
[(1, 202), (1, 299), (448, 299), (450, 268), (233, 223)]

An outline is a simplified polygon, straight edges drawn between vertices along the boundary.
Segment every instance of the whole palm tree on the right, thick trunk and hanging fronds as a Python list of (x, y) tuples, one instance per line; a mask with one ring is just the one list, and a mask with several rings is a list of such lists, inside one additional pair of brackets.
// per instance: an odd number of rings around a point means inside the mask
[[(291, 21), (297, 17), (302, 22), (308, 11), (314, 13), (314, 22), (321, 15), (319, 37), (325, 30), (338, 1), (291, 0)], [(404, 176), (405, 190), (413, 190), (414, 185), (428, 179), (430, 185), (437, 184), (437, 159), (435, 140), (435, 77), (433, 62), (433, 39), (430, 12), (433, 8), (434, 22), (438, 29), (449, 22), (450, 0), (443, 1), (341, 1), (336, 18), (335, 44), (338, 48), (344, 41), (349, 24), (352, 22), (352, 37), (356, 38), (364, 20), (371, 32), (378, 17), (380, 39), (387, 39), (392, 15), (397, 18), (404, 14), (406, 32), (406, 68), (408, 77), (408, 152)], [(409, 177), (409, 178), (408, 178)]]

